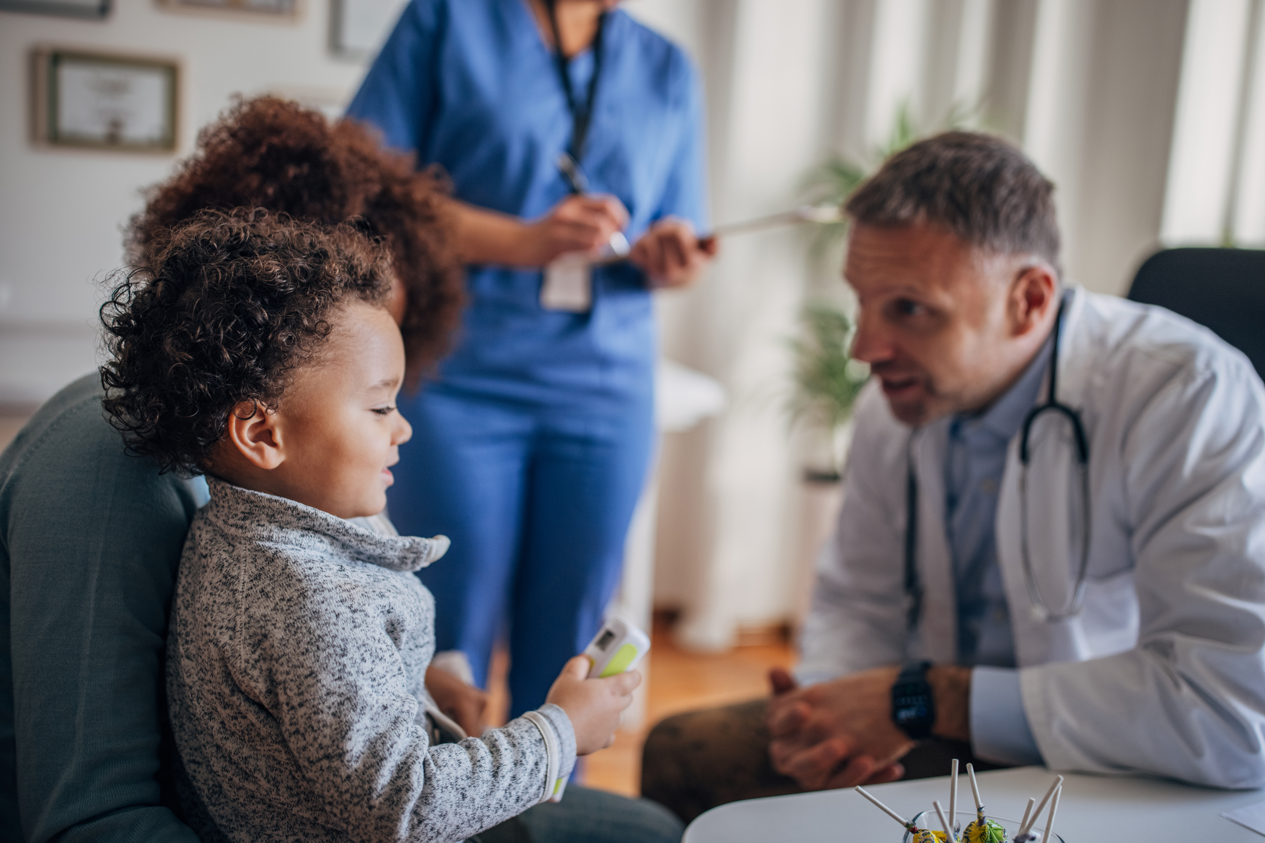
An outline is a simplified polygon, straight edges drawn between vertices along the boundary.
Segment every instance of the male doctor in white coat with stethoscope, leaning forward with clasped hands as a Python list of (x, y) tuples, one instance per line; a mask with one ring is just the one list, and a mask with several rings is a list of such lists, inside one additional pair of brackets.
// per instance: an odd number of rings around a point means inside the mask
[(1061, 284), (1051, 192), (955, 131), (848, 202), (873, 382), (797, 677), (657, 727), (644, 795), (689, 819), (973, 756), (1265, 785), (1265, 389)]

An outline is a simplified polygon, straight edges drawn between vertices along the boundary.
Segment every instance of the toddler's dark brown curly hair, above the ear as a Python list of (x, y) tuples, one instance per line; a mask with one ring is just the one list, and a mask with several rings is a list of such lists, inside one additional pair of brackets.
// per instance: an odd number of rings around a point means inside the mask
[(391, 282), (383, 244), (352, 225), (195, 214), (101, 306), (110, 423), (161, 471), (201, 474), (234, 407), (280, 407), (339, 306), (386, 307)]

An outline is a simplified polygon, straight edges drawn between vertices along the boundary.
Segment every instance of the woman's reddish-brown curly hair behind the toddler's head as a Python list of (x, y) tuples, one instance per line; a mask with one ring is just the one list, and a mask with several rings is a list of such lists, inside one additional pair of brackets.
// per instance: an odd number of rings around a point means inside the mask
[(357, 123), (275, 96), (239, 100), (202, 129), (197, 149), (147, 193), (132, 219), (129, 258), (147, 265), (170, 230), (202, 209), (266, 209), (300, 220), (363, 220), (392, 255), (407, 296), (409, 382), (443, 356), (464, 302), (462, 265), (449, 243), (447, 179), (416, 172), (410, 155), (382, 149)]

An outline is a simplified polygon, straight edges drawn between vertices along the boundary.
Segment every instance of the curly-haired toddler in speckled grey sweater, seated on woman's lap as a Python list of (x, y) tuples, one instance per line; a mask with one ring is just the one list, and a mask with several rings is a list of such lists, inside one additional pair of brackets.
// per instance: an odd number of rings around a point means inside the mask
[(111, 422), (211, 493), (167, 647), (177, 790), (204, 840), (467, 838), (549, 799), (636, 685), (577, 657), (539, 710), (433, 741), (434, 600), (412, 573), (448, 540), (350, 521), (383, 509), (411, 432), (390, 289), (352, 226), (207, 211), (102, 308)]

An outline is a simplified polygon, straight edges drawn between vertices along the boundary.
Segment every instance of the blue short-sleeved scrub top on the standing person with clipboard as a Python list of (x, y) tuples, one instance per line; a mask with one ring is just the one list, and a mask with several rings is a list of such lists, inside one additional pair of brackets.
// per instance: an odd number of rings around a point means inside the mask
[[(634, 241), (681, 216), (703, 230), (702, 96), (686, 54), (620, 10), (606, 15), (595, 115), (581, 166), (629, 210)], [(592, 51), (571, 62), (583, 100)], [(558, 171), (572, 115), (526, 0), (412, 0), (348, 116), (382, 130), (454, 195), (528, 219), (568, 193)], [(643, 401), (651, 389), (650, 296), (630, 264), (593, 273), (588, 313), (540, 307), (541, 272), (472, 267), (469, 307), (439, 388), (553, 406)]]

